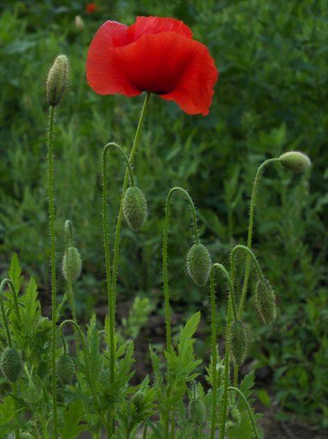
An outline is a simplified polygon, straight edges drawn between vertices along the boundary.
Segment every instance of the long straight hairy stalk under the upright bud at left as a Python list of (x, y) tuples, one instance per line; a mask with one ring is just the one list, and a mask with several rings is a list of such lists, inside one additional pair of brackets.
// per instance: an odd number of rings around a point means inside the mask
[(54, 410), (54, 437), (58, 437), (57, 390), (56, 390), (56, 249), (55, 249), (55, 214), (53, 193), (53, 158), (55, 107), (50, 106), (49, 133), (48, 133), (48, 196), (50, 219), (50, 251), (51, 251), (51, 387)]

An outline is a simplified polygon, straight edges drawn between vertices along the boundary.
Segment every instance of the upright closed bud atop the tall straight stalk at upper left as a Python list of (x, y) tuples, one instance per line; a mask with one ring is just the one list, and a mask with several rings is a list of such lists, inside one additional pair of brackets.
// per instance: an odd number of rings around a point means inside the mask
[(51, 67), (47, 79), (47, 101), (56, 106), (63, 99), (68, 85), (68, 59), (58, 55)]

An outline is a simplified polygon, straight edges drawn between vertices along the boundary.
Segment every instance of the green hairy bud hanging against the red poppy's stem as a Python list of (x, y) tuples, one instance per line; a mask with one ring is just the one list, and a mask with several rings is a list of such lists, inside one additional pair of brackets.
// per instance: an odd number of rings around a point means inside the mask
[(139, 187), (131, 186), (123, 199), (123, 216), (132, 230), (137, 231), (145, 224), (147, 218), (147, 201)]

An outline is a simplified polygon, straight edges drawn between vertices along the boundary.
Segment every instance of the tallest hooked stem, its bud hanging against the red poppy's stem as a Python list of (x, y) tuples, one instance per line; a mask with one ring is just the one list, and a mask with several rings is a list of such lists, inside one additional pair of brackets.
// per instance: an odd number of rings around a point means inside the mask
[(114, 368), (115, 368), (115, 334), (114, 334), (114, 324), (115, 324), (115, 298), (113, 295), (112, 281), (110, 275), (110, 252), (109, 252), (109, 242), (108, 242), (108, 221), (107, 221), (107, 167), (106, 167), (106, 157), (108, 148), (111, 146), (117, 148), (123, 155), (126, 162), (127, 171), (129, 171), (131, 185), (134, 185), (133, 171), (131, 164), (129, 162), (126, 153), (120, 145), (115, 142), (110, 142), (104, 146), (103, 151), (103, 229), (104, 229), (104, 247), (105, 247), (105, 259), (106, 259), (106, 278), (107, 278), (107, 295), (108, 295), (108, 315), (110, 321), (110, 332), (109, 332), (109, 344), (110, 344), (110, 383), (114, 381)]

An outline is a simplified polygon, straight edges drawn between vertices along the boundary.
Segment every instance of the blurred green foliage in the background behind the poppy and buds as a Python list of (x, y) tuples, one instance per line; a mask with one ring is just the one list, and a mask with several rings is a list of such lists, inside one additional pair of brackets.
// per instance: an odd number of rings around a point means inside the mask
[[(143, 96), (97, 95), (85, 79), (92, 37), (104, 20), (130, 25), (136, 15), (183, 20), (215, 59), (219, 81), (206, 118), (184, 114), (174, 102), (151, 98), (135, 162), (147, 194), (149, 219), (139, 233), (122, 229), (118, 298), (139, 293), (162, 303), (163, 206), (172, 186), (190, 192), (199, 213), (202, 242), (213, 261), (229, 264), (236, 242), (247, 240), (252, 183), (259, 164), (290, 150), (307, 153), (312, 167), (291, 176), (266, 169), (256, 202), (254, 250), (277, 290), (279, 315), (258, 324), (252, 300), (259, 366), (274, 371), (282, 407), (323, 423), (327, 419), (327, 26), (325, 0), (24, 0), (0, 3), (1, 212), (0, 269), (17, 252), (26, 275), (48, 292), (46, 130), (44, 82), (59, 53), (69, 56), (71, 86), (56, 125), (58, 266), (64, 224), (75, 226), (83, 257), (76, 295), (81, 318), (106, 300), (101, 229), (101, 151), (133, 142)], [(83, 29), (76, 25), (76, 16)], [(79, 24), (79, 21), (78, 21)], [(124, 164), (110, 155), (111, 242), (120, 203)], [(208, 290), (183, 276), (192, 243), (190, 217), (178, 195), (170, 222), (170, 293), (180, 311), (209, 309)], [(240, 258), (236, 291), (243, 282)], [(254, 279), (255, 281), (255, 279)], [(63, 279), (60, 281), (63, 290)], [(223, 283), (218, 282), (223, 290)], [(252, 289), (249, 288), (250, 291)], [(85, 295), (85, 291), (88, 292)], [(186, 294), (186, 292), (188, 292)], [(219, 301), (226, 303), (224, 294)], [(218, 311), (220, 328), (224, 330)], [(327, 383), (326, 383), (327, 384)], [(325, 413), (326, 412), (326, 413)], [(326, 418), (325, 416), (326, 415)]]

